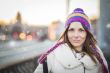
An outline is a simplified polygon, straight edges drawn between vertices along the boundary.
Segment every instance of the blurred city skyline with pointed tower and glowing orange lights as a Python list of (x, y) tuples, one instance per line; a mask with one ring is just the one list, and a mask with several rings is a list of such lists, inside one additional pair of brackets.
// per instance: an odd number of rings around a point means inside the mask
[(22, 21), (22, 15), (17, 12), (14, 21), (0, 23), (0, 40), (36, 40), (47, 39), (47, 26), (29, 26)]

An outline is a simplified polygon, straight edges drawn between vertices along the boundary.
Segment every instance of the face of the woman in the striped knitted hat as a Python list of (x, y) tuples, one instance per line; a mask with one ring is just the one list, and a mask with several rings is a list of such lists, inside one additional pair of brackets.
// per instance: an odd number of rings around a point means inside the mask
[(85, 42), (87, 32), (80, 22), (72, 22), (68, 28), (68, 39), (75, 47), (82, 47)]

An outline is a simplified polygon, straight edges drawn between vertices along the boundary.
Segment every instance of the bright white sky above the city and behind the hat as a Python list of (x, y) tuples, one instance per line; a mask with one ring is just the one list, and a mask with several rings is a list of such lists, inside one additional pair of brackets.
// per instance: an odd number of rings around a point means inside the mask
[[(87, 14), (98, 13), (99, 0), (70, 0), (69, 12), (75, 7), (84, 8)], [(49, 25), (54, 20), (66, 18), (66, 0), (0, 0), (0, 19), (11, 20), (17, 11), (30, 25)]]

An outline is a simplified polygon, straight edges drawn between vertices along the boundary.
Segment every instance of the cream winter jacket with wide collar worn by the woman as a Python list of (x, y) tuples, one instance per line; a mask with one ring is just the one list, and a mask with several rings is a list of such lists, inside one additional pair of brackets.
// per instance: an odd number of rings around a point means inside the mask
[[(102, 73), (98, 60), (94, 63), (88, 54), (71, 50), (67, 44), (58, 46), (47, 56), (49, 73)], [(34, 73), (43, 73), (43, 65), (39, 64)]]

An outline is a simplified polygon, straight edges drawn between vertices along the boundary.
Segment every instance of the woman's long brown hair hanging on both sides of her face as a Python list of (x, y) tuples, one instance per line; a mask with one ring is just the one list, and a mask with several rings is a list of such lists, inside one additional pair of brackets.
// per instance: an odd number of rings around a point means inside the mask
[[(86, 40), (83, 45), (83, 51), (86, 52), (95, 63), (97, 63), (96, 59), (94, 58), (94, 56), (95, 56), (94, 51), (92, 50), (92, 47), (91, 47), (91, 45), (95, 46), (97, 41), (94, 38), (93, 34), (90, 31), (88, 31), (84, 25), (82, 25), (82, 26), (87, 32)], [(74, 46), (70, 43), (68, 36), (67, 36), (68, 28), (69, 28), (69, 26), (66, 28), (65, 32), (63, 33), (63, 35), (61, 36), (60, 39), (63, 38), (64, 42), (67, 43), (71, 49), (74, 49)]]

